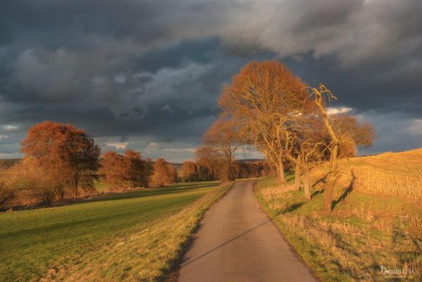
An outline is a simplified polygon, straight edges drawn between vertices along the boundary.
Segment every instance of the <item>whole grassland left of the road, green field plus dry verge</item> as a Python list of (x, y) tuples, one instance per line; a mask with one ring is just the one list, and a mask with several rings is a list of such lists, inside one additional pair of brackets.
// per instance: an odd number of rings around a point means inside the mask
[(228, 189), (218, 185), (178, 183), (1, 213), (0, 281), (154, 281), (171, 267), (204, 210)]

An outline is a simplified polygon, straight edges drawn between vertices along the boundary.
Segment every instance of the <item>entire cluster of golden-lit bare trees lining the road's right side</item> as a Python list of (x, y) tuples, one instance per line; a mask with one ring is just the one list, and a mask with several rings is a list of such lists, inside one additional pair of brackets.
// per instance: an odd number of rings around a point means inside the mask
[[(326, 105), (336, 97), (324, 86), (309, 87), (278, 61), (252, 62), (225, 85), (218, 105), (221, 115), (204, 135), (204, 155), (223, 159), (221, 178), (235, 178), (234, 154), (255, 147), (285, 183), (285, 171), (303, 178), (311, 199), (309, 170), (327, 164), (324, 208), (332, 209), (333, 189), (340, 176), (337, 159), (352, 157), (357, 146), (370, 146), (374, 131), (348, 115), (329, 115)], [(217, 156), (217, 157), (214, 157)]]

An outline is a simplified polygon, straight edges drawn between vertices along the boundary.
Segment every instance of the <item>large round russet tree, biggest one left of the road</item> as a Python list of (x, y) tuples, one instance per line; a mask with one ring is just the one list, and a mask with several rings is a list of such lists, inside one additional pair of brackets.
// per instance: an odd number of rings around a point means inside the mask
[(84, 130), (63, 123), (45, 121), (32, 126), (21, 144), (21, 151), (57, 176), (68, 176), (73, 196), (78, 188), (94, 188), (100, 149)]

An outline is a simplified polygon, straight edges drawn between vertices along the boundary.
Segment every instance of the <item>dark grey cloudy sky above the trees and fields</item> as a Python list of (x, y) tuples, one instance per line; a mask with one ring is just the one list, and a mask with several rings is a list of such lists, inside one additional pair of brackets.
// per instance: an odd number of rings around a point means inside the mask
[(189, 159), (222, 85), (266, 59), (373, 123), (361, 153), (422, 147), (421, 15), (421, 0), (2, 0), (0, 158), (50, 120)]

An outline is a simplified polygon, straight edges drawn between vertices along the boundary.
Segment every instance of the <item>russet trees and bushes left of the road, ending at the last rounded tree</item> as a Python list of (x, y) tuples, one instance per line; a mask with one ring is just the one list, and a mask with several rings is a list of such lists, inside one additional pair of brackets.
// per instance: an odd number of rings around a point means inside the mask
[(132, 150), (124, 154), (110, 151), (101, 157), (94, 139), (70, 124), (46, 121), (34, 125), (21, 146), (25, 157), (8, 169), (6, 181), (0, 183), (0, 205), (18, 194), (44, 204), (65, 194), (78, 197), (80, 189), (94, 192), (98, 181), (111, 190), (121, 190), (161, 187), (178, 178), (165, 159), (144, 160)]

